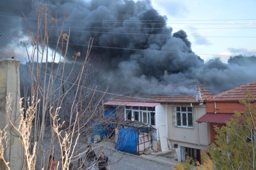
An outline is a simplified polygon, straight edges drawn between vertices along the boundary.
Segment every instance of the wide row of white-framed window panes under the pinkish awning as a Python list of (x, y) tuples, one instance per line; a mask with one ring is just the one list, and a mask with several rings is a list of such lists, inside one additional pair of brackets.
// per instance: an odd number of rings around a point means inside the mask
[(155, 125), (155, 107), (125, 106), (126, 120), (134, 117), (136, 121)]

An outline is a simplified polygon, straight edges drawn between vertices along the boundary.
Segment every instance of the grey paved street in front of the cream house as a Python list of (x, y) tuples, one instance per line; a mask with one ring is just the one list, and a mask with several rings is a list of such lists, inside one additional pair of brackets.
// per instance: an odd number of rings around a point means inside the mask
[[(50, 134), (49, 131), (45, 133), (45, 142), (44, 142), (44, 149), (47, 150), (47, 147), (50, 145)], [(111, 142), (112, 141), (112, 142)], [(83, 141), (79, 142), (79, 148), (81, 152), (84, 152), (87, 149), (88, 143), (84, 139)], [(160, 156), (153, 156), (153, 155), (144, 155), (143, 158), (138, 155), (123, 153), (118, 150), (115, 150), (115, 143), (113, 139), (110, 140), (103, 140), (100, 143), (90, 143), (93, 150), (95, 151), (96, 156), (100, 155), (100, 152), (103, 151), (106, 156), (108, 156), (111, 160), (111, 170), (170, 170), (170, 165), (168, 163), (171, 162), (171, 159), (163, 158)], [(57, 148), (57, 145), (55, 146)], [(57, 154), (57, 151), (55, 151)], [(85, 154), (82, 155), (82, 158), (85, 158)], [(147, 159), (146, 159), (147, 158)], [(151, 161), (151, 160), (154, 161)], [(164, 163), (159, 163), (159, 160), (163, 161)], [(170, 160), (170, 161), (169, 161)], [(77, 160), (72, 162), (77, 164)], [(173, 163), (174, 165), (175, 163)], [(98, 170), (97, 167), (95, 167)]]

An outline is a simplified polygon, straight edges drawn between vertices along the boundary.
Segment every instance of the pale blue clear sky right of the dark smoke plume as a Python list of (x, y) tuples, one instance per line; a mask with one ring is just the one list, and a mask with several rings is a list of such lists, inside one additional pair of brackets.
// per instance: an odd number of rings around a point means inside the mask
[(205, 61), (256, 55), (255, 0), (152, 0), (152, 5), (168, 17), (173, 32), (186, 31), (192, 50)]

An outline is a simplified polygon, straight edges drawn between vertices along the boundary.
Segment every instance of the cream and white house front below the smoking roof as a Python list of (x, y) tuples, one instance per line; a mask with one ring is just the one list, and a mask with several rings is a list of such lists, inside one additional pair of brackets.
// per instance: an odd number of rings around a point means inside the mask
[(140, 95), (139, 97), (109, 100), (104, 105), (123, 106), (121, 113), (125, 121), (150, 124), (152, 149), (165, 151), (175, 148), (178, 161), (186, 159), (186, 153), (199, 162), (201, 152), (210, 140), (209, 123), (196, 120), (206, 113), (206, 98), (210, 94), (200, 83), (195, 86), (196, 93), (182, 95)]

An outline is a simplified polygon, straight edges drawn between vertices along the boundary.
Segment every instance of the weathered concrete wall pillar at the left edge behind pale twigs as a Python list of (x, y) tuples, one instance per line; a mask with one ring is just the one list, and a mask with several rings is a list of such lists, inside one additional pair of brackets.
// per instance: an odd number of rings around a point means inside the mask
[[(16, 62), (16, 66), (15, 66)], [(19, 73), (19, 60), (2, 59), (0, 60), (0, 128), (3, 129), (7, 126), (7, 140), (8, 146), (5, 150), (4, 157), (8, 161), (10, 156), (11, 169), (20, 169), (22, 166), (22, 150), (21, 142), (18, 136), (14, 136), (14, 130), (11, 130), (7, 114), (12, 122), (17, 126), (19, 124), (19, 111), (20, 111), (20, 73)], [(17, 74), (16, 74), (17, 70)], [(12, 101), (7, 103), (7, 97), (10, 96)], [(10, 106), (6, 111), (6, 104)], [(11, 145), (10, 141), (12, 142)], [(10, 150), (11, 149), (11, 150)], [(10, 154), (9, 154), (9, 151)]]

